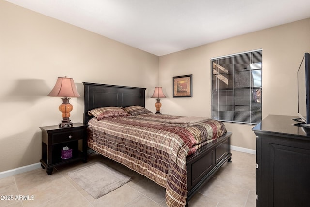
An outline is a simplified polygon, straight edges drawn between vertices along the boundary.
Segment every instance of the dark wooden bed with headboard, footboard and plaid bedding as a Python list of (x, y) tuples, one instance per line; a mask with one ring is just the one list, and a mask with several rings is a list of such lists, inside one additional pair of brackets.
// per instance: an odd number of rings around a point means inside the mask
[[(166, 188), (168, 206), (188, 206), (190, 198), (231, 161), (232, 133), (223, 123), (147, 112), (145, 88), (83, 84), (88, 147)], [(97, 109), (106, 108), (143, 112), (99, 119)]]

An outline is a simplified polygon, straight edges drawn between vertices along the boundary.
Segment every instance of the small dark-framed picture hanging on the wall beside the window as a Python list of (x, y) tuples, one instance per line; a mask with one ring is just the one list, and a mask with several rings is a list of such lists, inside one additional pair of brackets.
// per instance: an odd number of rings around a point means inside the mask
[(193, 75), (173, 77), (173, 97), (192, 97), (192, 78)]

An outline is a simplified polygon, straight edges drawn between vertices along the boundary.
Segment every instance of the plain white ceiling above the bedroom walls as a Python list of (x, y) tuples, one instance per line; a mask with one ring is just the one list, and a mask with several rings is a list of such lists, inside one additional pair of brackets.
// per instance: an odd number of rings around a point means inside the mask
[(310, 17), (310, 0), (6, 0), (157, 56)]

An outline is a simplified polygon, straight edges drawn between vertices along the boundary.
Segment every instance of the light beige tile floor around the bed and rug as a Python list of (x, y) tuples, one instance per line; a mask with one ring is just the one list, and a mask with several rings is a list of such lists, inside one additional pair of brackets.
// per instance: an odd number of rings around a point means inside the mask
[[(256, 206), (255, 155), (238, 151), (232, 151), (232, 154), (232, 163), (226, 162), (221, 167), (192, 197), (189, 207)], [(97, 161), (131, 176), (133, 180), (99, 199), (94, 199), (66, 173)], [(16, 195), (20, 199), (16, 199)], [(0, 196), (0, 207), (167, 207), (163, 187), (94, 153), (89, 155), (86, 164), (78, 162), (58, 167), (49, 176), (45, 169), (36, 169), (2, 178)]]

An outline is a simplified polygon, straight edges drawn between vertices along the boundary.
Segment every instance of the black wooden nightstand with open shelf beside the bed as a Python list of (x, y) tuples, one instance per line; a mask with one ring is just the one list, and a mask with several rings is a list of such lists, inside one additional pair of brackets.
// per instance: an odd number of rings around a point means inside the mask
[[(72, 127), (47, 126), (39, 127), (42, 131), (42, 159), (43, 169), (47, 168), (47, 175), (51, 175), (53, 168), (73, 161), (87, 162), (86, 128), (88, 125), (74, 123)], [(64, 147), (70, 149), (70, 158), (62, 158)]]

